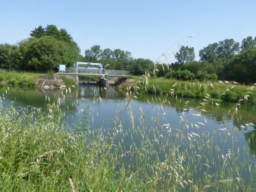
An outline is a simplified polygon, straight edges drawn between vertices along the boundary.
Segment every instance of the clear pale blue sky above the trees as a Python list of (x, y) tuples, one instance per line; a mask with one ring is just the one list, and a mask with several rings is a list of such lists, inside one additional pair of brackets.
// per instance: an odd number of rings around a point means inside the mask
[(194, 34), (188, 46), (199, 59), (209, 43), (256, 36), (256, 0), (0, 0), (0, 43), (15, 44), (47, 24), (65, 28), (82, 55), (97, 44), (153, 61)]

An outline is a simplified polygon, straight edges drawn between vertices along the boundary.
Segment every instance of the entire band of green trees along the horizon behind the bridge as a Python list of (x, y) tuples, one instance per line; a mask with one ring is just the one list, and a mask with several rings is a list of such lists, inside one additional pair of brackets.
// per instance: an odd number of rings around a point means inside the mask
[[(59, 64), (73, 66), (76, 61), (100, 62), (106, 69), (128, 70), (134, 75), (148, 71), (151, 76), (189, 79), (221, 79), (256, 82), (256, 37), (239, 42), (225, 39), (199, 51), (195, 61), (193, 47), (180, 46), (175, 63), (154, 64), (150, 59), (134, 59), (131, 52), (94, 45), (80, 55), (80, 48), (67, 30), (55, 25), (36, 27), (30, 37), (16, 45), (0, 44), (0, 68), (20, 70), (57, 70)], [(155, 73), (153, 73), (155, 69)]]

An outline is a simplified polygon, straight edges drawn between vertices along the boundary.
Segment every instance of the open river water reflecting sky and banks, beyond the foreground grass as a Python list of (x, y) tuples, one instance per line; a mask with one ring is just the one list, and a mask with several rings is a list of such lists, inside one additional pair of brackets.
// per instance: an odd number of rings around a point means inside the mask
[[(7, 87), (0, 87), (0, 93), (5, 94)], [(9, 105), (10, 101), (15, 101), (14, 106), (34, 106), (45, 108), (46, 96), (50, 97), (50, 101), (60, 100), (62, 109), (67, 114), (67, 121), (70, 124), (76, 123), (81, 116), (78, 115), (78, 111), (85, 109), (87, 104), (91, 107), (91, 110), (87, 113), (90, 118), (93, 116), (94, 121), (90, 122), (90, 126), (97, 128), (102, 126), (111, 127), (112, 120), (114, 119), (117, 110), (120, 109), (119, 104), (124, 101), (127, 96), (125, 91), (119, 91), (114, 88), (104, 89), (102, 87), (87, 87), (81, 86), (76, 89), (69, 90), (45, 90), (41, 88), (24, 88), (24, 87), (9, 87), (8, 94), (5, 94), (5, 100), (3, 102), (4, 107)], [(178, 124), (181, 114), (185, 113), (191, 121), (197, 121), (192, 116), (192, 113), (198, 113), (201, 108), (201, 100), (188, 99), (188, 98), (175, 98), (175, 97), (158, 97), (152, 95), (141, 95), (133, 101), (134, 114), (136, 117), (140, 116), (139, 107), (144, 111), (152, 108), (151, 116), (146, 117), (145, 122), (151, 122), (151, 118), (165, 118), (167, 122), (171, 122), (172, 125)], [(189, 101), (187, 104), (186, 101)], [(153, 106), (155, 105), (155, 106)], [(232, 110), (234, 103), (222, 102), (219, 107), (215, 105), (206, 105), (203, 114), (206, 119), (209, 119), (212, 123), (206, 126), (207, 131), (217, 129), (219, 124), (223, 121), (223, 116), (227, 116), (229, 123), (232, 123), (234, 127), (240, 130), (243, 136), (243, 141), (247, 142), (252, 154), (256, 154), (256, 129), (254, 126), (247, 126), (245, 123), (256, 124), (256, 106), (242, 105), (238, 110), (238, 114), (229, 113)], [(68, 107), (68, 110), (67, 110)], [(166, 114), (162, 115), (160, 111), (163, 108)], [(91, 118), (92, 119), (92, 118)], [(123, 116), (123, 122), (129, 122), (129, 115)], [(245, 130), (241, 127), (248, 128)]]

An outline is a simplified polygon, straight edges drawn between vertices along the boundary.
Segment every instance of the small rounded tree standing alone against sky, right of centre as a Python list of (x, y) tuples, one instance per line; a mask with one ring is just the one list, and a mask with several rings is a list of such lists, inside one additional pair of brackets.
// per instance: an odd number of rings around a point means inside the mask
[(181, 46), (179, 53), (176, 52), (175, 58), (178, 64), (190, 63), (195, 59), (194, 47)]

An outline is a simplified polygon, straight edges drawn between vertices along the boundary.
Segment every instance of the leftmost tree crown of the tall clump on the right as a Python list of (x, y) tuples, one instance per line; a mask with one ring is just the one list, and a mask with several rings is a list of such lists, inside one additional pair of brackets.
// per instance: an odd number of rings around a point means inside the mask
[(218, 43), (212, 43), (199, 50), (199, 57), (201, 61), (213, 63), (218, 59)]

